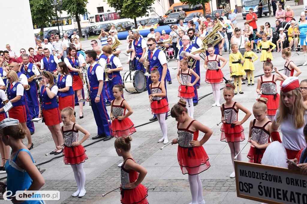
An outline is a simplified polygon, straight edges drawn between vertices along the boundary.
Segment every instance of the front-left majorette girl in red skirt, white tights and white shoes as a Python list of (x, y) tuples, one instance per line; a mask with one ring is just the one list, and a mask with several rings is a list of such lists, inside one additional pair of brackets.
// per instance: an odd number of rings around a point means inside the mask
[[(70, 164), (74, 172), (78, 190), (72, 194), (73, 197), (79, 196), (83, 197), (86, 193), (84, 189), (85, 185), (85, 173), (83, 169), (83, 162), (87, 159), (85, 154), (85, 148), (81, 145), (89, 136), (90, 133), (82, 128), (80, 125), (72, 122), (73, 108), (64, 108), (61, 112), (61, 119), (63, 121), (63, 126), (61, 132), (64, 138), (65, 147), (63, 150), (64, 163)], [(84, 137), (78, 141), (78, 132), (82, 132)], [(57, 147), (59, 150), (62, 149), (61, 146)]]

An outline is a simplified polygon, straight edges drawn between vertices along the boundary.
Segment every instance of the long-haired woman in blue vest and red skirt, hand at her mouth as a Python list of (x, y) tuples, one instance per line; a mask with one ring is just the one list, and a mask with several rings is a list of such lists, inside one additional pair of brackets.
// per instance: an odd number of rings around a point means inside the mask
[[(58, 87), (54, 84), (51, 72), (43, 71), (41, 87), (41, 107), (38, 117), (44, 116), (45, 124), (51, 132), (52, 139), (57, 146), (62, 145), (63, 136), (60, 129), (61, 117), (59, 105), (56, 102)], [(50, 154), (60, 154), (63, 149), (51, 152)]]

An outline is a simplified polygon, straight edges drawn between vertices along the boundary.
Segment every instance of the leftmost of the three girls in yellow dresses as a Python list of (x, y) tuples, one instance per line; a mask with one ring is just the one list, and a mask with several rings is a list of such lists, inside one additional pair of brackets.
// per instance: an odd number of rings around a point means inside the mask
[(245, 72), (243, 70), (242, 64), (244, 63), (244, 59), (242, 57), (242, 54), (238, 52), (239, 48), (237, 44), (231, 45), (232, 53), (229, 55), (229, 68), (230, 68), (230, 74), (234, 79), (235, 84), (235, 95), (238, 94), (237, 92), (237, 83), (239, 82), (239, 93), (244, 94), (243, 91), (241, 91), (241, 77), (245, 75)]

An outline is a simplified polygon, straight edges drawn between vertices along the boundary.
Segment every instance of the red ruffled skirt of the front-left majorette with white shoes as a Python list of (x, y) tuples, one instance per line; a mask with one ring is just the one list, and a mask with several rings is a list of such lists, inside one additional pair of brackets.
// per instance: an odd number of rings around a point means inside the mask
[(86, 149), (80, 144), (76, 147), (64, 147), (64, 163), (65, 164), (80, 164), (87, 159), (85, 154)]

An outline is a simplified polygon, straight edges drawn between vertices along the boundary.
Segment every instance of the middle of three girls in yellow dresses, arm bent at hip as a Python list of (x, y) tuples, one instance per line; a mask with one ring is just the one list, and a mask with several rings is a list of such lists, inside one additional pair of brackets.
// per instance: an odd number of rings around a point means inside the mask
[[(251, 51), (251, 43), (247, 43), (245, 44), (244, 46), (246, 52), (244, 53), (244, 64), (243, 64), (243, 69), (244, 71), (246, 72), (246, 75), (247, 75), (247, 81), (248, 81), (248, 84), (247, 86), (254, 86), (255, 83), (254, 83), (254, 70), (255, 70), (255, 67), (254, 67), (254, 61), (256, 61), (258, 59), (258, 56), (253, 52)], [(254, 60), (252, 60), (252, 57), (255, 57)], [(251, 83), (250, 83), (251, 82)]]

